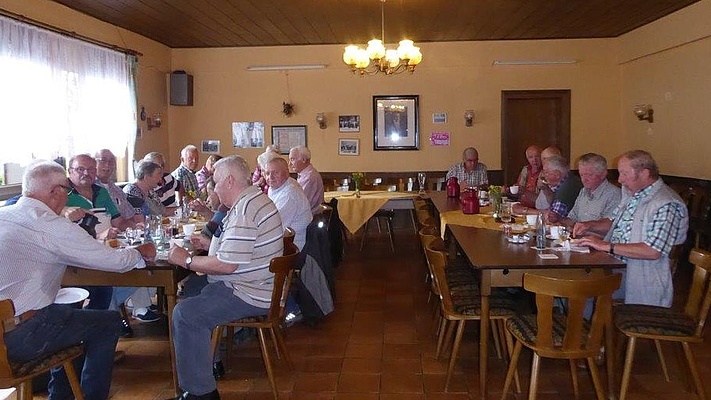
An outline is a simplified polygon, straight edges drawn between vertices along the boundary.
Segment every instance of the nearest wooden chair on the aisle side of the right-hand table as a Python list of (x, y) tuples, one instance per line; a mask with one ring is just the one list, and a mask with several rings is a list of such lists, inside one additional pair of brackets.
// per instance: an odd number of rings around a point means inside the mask
[[(459, 346), (464, 335), (464, 326), (467, 321), (481, 319), (481, 295), (478, 284), (472, 281), (458, 287), (450, 285), (450, 281), (455, 279), (452, 276), (455, 270), (445, 271), (445, 268), (447, 268), (447, 252), (441, 249), (444, 247), (444, 243), (441, 241), (441, 238), (435, 238), (427, 245), (426, 252), (440, 296), (440, 310), (442, 317), (445, 319), (445, 323), (441, 324), (439, 331), (437, 358), (439, 358), (443, 345), (451, 341), (455, 329), (453, 325), (456, 325), (456, 336), (449, 358), (447, 378), (444, 383), (444, 391), (446, 392), (449, 389), (449, 382), (452, 379), (454, 366), (457, 362)], [(489, 313), (492, 321), (505, 320), (516, 313), (516, 304), (508, 296), (491, 296)], [(455, 324), (447, 324), (446, 321), (451, 321)], [(492, 330), (495, 329), (495, 325), (495, 323), (491, 324)], [(481, 334), (487, 335), (486, 332)], [(498, 345), (498, 334), (495, 333), (493, 337), (495, 344)], [(487, 338), (482, 338), (481, 340), (487, 340)]]

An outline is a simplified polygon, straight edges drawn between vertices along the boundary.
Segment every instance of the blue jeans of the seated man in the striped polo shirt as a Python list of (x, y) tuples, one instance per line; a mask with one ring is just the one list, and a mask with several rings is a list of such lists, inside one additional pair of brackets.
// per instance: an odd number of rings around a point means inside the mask
[(266, 315), (267, 311), (245, 303), (222, 282), (210, 283), (200, 294), (180, 301), (173, 309), (173, 343), (180, 388), (195, 395), (215, 390), (210, 355), (212, 330), (244, 317)]

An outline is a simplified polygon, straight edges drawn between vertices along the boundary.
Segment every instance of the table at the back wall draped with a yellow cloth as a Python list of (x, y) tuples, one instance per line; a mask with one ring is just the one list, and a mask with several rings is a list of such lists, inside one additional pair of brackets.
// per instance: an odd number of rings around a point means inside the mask
[(326, 203), (338, 201), (338, 216), (346, 229), (355, 234), (378, 210), (413, 210), (417, 192), (387, 190), (330, 191)]

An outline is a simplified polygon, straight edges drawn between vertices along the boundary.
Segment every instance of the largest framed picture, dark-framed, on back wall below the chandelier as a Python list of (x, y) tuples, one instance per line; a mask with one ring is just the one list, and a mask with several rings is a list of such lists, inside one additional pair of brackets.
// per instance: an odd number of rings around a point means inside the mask
[(373, 96), (373, 150), (418, 150), (420, 96)]

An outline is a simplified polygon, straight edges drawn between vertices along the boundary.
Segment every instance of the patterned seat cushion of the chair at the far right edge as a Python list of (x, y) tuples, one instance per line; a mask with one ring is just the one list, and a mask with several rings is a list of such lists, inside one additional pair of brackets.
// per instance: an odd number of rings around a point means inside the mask
[(624, 304), (613, 308), (615, 325), (625, 333), (694, 336), (696, 321), (670, 308)]

